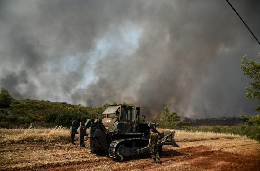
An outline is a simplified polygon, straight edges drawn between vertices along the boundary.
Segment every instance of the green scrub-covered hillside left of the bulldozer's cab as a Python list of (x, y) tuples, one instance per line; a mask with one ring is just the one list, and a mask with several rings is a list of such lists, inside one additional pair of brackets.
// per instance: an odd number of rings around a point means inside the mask
[(84, 107), (66, 102), (14, 100), (9, 108), (0, 108), (0, 127), (70, 126), (72, 121), (86, 122), (88, 118), (104, 118), (100, 107)]

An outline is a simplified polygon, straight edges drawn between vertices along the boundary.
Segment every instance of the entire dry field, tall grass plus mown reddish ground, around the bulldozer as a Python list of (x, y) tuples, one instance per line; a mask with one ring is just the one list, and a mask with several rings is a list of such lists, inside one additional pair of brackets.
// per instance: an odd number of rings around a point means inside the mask
[[(69, 130), (0, 129), (0, 170), (260, 170), (260, 144), (232, 134), (176, 131), (180, 148), (164, 146), (151, 158), (112, 161), (69, 143)], [(88, 141), (85, 141), (86, 146)]]

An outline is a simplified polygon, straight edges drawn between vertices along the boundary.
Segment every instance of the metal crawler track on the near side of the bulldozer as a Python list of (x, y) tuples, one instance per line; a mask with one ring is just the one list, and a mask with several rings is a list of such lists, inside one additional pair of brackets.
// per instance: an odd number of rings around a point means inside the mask
[[(126, 143), (126, 142), (136, 142), (136, 141), (148, 141), (149, 139), (147, 138), (127, 138), (127, 139), (118, 139), (118, 140), (114, 140), (111, 142), (111, 144), (109, 145), (108, 148), (108, 154), (109, 157), (113, 158), (114, 160), (119, 160), (119, 158), (117, 158), (116, 156), (116, 148), (119, 144), (121, 143)], [(148, 156), (147, 154), (142, 155), (142, 154), (136, 154), (136, 155), (132, 155), (129, 156), (128, 159), (132, 159), (132, 158), (139, 158), (139, 157), (146, 157)]]

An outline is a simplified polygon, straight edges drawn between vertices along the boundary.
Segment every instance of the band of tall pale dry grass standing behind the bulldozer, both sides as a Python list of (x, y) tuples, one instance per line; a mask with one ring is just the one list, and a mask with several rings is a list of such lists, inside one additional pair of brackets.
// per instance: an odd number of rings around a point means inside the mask
[[(213, 133), (213, 132), (191, 132), (175, 130), (176, 142), (216, 140), (220, 138), (241, 138), (239, 135)], [(56, 126), (54, 128), (32, 128), (28, 129), (0, 129), (0, 144), (22, 143), (22, 142), (60, 142), (70, 141), (70, 130)], [(245, 137), (243, 137), (245, 138)], [(75, 140), (79, 140), (76, 135)]]

